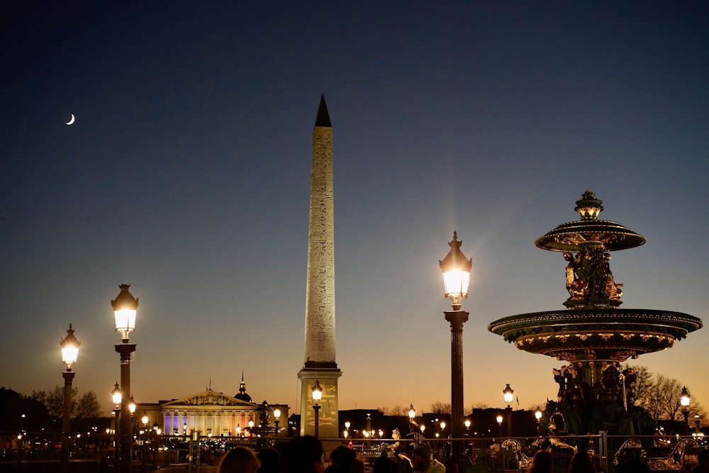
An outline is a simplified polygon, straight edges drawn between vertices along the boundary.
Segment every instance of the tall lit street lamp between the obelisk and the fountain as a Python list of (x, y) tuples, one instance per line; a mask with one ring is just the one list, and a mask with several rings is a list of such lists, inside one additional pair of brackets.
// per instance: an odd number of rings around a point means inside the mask
[[(458, 241), (458, 233), (453, 232), (453, 240), (448, 243), (450, 251), (439, 261), (445, 296), (452, 301), (452, 311), (444, 311), (445, 320), (450, 322), (450, 395), (451, 395), (451, 437), (452, 458), (456, 461), (462, 459), (462, 445), (459, 438), (463, 436), (463, 324), (468, 320), (468, 313), (462, 311), (462, 299), (468, 297), (468, 284), (470, 283), (470, 269), (473, 260), (468, 259), (460, 251), (462, 241)], [(462, 465), (461, 465), (462, 469)]]

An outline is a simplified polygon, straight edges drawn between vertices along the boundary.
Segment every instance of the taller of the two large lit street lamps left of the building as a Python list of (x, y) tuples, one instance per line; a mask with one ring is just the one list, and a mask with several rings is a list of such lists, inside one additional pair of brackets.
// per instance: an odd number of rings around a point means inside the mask
[(116, 332), (121, 333), (121, 344), (115, 345), (116, 352), (121, 355), (121, 472), (130, 473), (131, 450), (133, 447), (133, 431), (130, 423), (130, 357), (135, 351), (135, 343), (128, 343), (130, 332), (135, 330), (135, 314), (138, 312), (138, 299), (130, 294), (130, 284), (118, 286), (121, 292), (111, 301), (113, 317), (116, 321)]

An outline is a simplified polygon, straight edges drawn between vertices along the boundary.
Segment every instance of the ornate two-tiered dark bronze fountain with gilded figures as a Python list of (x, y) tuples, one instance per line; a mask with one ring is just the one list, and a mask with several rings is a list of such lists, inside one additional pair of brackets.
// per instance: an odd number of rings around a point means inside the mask
[[(501, 318), (488, 330), (519, 350), (568, 362), (554, 369), (557, 401), (549, 401), (542, 425), (556, 433), (653, 433), (652, 418), (633, 405), (637, 372), (620, 363), (669, 348), (703, 326), (686, 313), (621, 309), (623, 284), (613, 279), (610, 252), (643, 245), (646, 239), (618, 222), (600, 220), (603, 203), (587, 190), (576, 201), (580, 219), (535, 241), (561, 252), (566, 261), (566, 310)], [(561, 425), (559, 425), (561, 424)]]

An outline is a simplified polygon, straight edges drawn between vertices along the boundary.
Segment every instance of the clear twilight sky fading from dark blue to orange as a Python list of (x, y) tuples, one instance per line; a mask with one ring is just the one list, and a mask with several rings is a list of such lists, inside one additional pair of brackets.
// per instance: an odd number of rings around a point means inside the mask
[[(450, 402), (453, 230), (466, 408), (506, 383), (520, 408), (554, 399), (565, 363), (487, 325), (563, 308), (566, 263), (534, 240), (586, 189), (648, 239), (613, 253), (622, 307), (706, 320), (705, 2), (11, 1), (0, 35), (1, 386), (61, 385), (72, 323), (74, 386), (108, 411), (128, 283), (136, 401), (233, 395), (243, 371), (298, 413), (323, 93), (341, 409)], [(704, 328), (632, 364), (707, 405), (708, 346)]]

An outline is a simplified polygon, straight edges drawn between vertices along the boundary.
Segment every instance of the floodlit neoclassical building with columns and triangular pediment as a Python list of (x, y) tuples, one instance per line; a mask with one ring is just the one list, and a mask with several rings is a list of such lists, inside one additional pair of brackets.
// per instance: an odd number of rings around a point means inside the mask
[[(279, 414), (278, 418), (275, 413)], [(180, 399), (136, 404), (134, 419), (136, 427), (160, 429), (162, 435), (199, 433), (211, 437), (236, 437), (276, 434), (286, 437), (288, 417), (287, 404), (252, 402), (251, 396), (246, 394), (242, 377), (239, 393), (235, 396), (209, 388)]]

